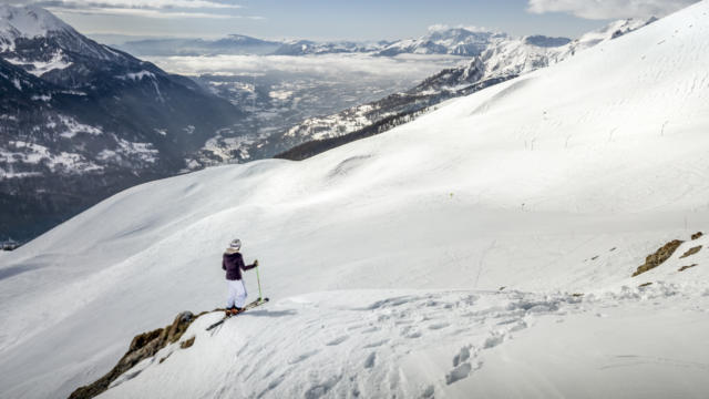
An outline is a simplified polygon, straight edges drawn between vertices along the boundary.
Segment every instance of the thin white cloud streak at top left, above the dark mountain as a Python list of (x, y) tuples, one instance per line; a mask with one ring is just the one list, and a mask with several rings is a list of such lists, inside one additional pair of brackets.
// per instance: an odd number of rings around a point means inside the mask
[(18, 0), (16, 4), (34, 4), (59, 14), (131, 16), (169, 18), (248, 18), (234, 0)]

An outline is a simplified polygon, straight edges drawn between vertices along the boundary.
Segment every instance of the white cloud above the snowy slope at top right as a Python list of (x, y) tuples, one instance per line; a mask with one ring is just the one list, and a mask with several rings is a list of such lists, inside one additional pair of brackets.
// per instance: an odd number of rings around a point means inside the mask
[(584, 19), (665, 17), (698, 0), (528, 0), (532, 13), (566, 12)]

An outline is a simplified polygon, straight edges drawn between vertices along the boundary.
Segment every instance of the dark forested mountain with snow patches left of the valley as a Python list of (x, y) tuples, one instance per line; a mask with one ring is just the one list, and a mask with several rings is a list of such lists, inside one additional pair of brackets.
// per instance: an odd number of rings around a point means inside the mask
[(174, 175), (238, 109), (99, 44), (44, 9), (0, 6), (0, 237), (24, 241)]

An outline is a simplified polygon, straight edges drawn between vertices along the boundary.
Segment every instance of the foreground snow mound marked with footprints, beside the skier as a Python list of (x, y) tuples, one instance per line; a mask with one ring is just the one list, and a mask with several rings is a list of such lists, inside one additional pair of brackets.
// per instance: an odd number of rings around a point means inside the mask
[[(179, 349), (179, 342), (165, 348), (154, 361), (135, 368), (142, 370), (137, 377), (116, 381), (101, 397), (137, 398), (151, 392), (155, 398), (169, 398), (181, 392), (201, 398), (217, 391), (220, 397), (240, 398), (308, 398), (318, 392), (333, 398), (441, 393), (548, 398), (595, 397), (602, 389), (609, 397), (633, 398), (638, 393), (658, 397), (678, 379), (701, 380), (706, 358), (690, 345), (679, 345), (685, 350), (677, 354), (670, 346), (647, 345), (649, 340), (638, 337), (657, 339), (677, 332), (701, 342), (709, 326), (705, 323), (690, 331), (686, 326), (706, 313), (686, 309), (686, 304), (674, 299), (658, 311), (649, 299), (654, 294), (634, 291), (644, 297), (619, 299), (617, 308), (604, 309), (607, 317), (603, 319), (588, 309), (602, 300), (572, 295), (309, 294), (228, 320), (214, 332), (205, 328), (219, 315), (198, 319), (182, 338), (195, 337), (192, 348)], [(708, 301), (703, 298), (697, 305)], [(658, 314), (637, 316), (648, 311)], [(668, 321), (669, 328), (665, 326)], [(307, 339), (298, 345), (282, 339), (294, 331)], [(568, 347), (577, 348), (576, 354), (559, 361), (556, 356)], [(263, 357), (277, 361), (261, 365), (257, 359)], [(623, 380), (624, 369), (647, 386)], [(587, 387), (574, 385), (579, 375), (608, 383), (584, 391)], [(680, 386), (676, 391), (681, 397), (703, 395), (701, 386)]]

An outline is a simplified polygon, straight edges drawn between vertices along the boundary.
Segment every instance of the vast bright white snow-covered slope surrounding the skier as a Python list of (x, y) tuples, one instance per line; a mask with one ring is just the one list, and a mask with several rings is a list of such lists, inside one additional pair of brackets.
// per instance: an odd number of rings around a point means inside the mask
[(708, 13), (305, 162), (133, 187), (4, 254), (3, 396), (66, 396), (135, 334), (222, 305), (239, 236), (271, 304), (214, 336), (203, 316), (106, 397), (702, 397)]

